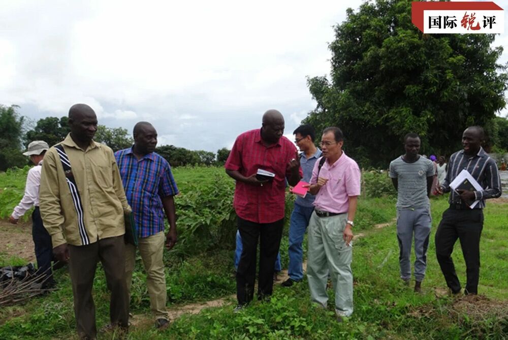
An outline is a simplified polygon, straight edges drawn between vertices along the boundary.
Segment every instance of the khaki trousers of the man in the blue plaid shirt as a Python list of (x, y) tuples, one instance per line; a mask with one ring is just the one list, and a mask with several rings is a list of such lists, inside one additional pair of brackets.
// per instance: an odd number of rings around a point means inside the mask
[[(164, 274), (164, 232), (140, 238), (138, 243), (139, 253), (146, 270), (146, 285), (150, 296), (150, 309), (155, 319), (168, 320), (166, 310), (167, 290), (166, 275)], [(132, 272), (136, 262), (136, 247), (125, 244), (125, 280), (131, 293)]]

